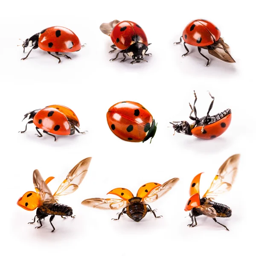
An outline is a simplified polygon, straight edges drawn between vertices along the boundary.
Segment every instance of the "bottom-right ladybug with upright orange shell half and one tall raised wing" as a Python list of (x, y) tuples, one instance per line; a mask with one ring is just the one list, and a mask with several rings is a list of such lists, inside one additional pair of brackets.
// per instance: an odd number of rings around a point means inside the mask
[(200, 198), (199, 194), (199, 183), (202, 173), (194, 177), (189, 189), (190, 198), (185, 206), (185, 211), (191, 211), (189, 217), (192, 223), (188, 225), (189, 227), (195, 227), (197, 225), (196, 217), (205, 215), (212, 218), (216, 223), (229, 231), (225, 225), (216, 220), (216, 217), (229, 218), (232, 215), (232, 210), (227, 205), (219, 204), (212, 200), (214, 200), (217, 195), (227, 192), (232, 188), (232, 184), (236, 178), (239, 159), (240, 154), (235, 154), (222, 164), (211, 186), (202, 198)]

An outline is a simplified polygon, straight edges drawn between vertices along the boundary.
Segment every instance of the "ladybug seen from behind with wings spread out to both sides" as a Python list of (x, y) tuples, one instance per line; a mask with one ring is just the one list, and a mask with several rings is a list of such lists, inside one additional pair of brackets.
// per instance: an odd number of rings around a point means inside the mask
[(112, 189), (108, 194), (117, 195), (121, 199), (89, 198), (82, 201), (82, 204), (99, 209), (119, 209), (122, 207), (122, 212), (118, 213), (118, 218), (112, 219), (115, 221), (119, 220), (123, 214), (127, 214), (132, 220), (138, 222), (145, 217), (147, 212), (152, 212), (155, 218), (160, 218), (162, 216), (157, 216), (155, 214), (156, 210), (152, 210), (148, 203), (156, 201), (172, 189), (178, 181), (179, 178), (173, 178), (163, 183), (163, 185), (154, 182), (146, 183), (140, 187), (136, 196), (125, 188)]

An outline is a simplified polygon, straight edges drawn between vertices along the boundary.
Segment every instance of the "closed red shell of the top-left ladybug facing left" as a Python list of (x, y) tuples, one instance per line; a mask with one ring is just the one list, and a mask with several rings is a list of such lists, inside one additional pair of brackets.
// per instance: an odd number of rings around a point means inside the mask
[(81, 49), (76, 34), (61, 26), (43, 29), (39, 34), (38, 46), (47, 52), (76, 52)]

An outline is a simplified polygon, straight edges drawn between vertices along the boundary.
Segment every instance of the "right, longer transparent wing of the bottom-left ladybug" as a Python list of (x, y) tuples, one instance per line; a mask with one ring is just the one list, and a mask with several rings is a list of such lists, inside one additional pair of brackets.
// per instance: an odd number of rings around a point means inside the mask
[(87, 157), (84, 160), (81, 160), (67, 175), (67, 178), (61, 183), (57, 191), (54, 193), (55, 201), (58, 201), (58, 198), (61, 195), (68, 195), (78, 189), (80, 183), (84, 179), (84, 176), (87, 174), (88, 167), (90, 165), (91, 157)]

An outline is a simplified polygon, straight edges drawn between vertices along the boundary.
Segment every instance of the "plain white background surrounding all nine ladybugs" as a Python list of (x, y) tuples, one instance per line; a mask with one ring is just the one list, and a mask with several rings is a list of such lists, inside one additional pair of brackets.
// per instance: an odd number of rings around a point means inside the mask
[[(1, 228), (4, 255), (182, 255), (204, 253), (216, 255), (246, 253), (253, 247), (255, 230), (255, 63), (253, 41), (255, 20), (249, 1), (12, 1), (1, 4)], [(186, 52), (183, 45), (174, 45), (185, 26), (194, 19), (212, 21), (221, 37), (230, 45), (235, 64), (228, 64), (195, 47)], [(99, 26), (111, 20), (132, 20), (144, 29), (152, 43), (145, 57), (148, 63), (131, 65), (110, 62), (111, 39)], [(33, 50), (25, 61), (19, 38), (25, 40), (50, 26), (64, 26), (86, 43), (80, 52), (62, 58), (61, 64), (41, 49)], [(26, 53), (29, 49), (26, 49)], [(121, 60), (121, 58), (119, 59)], [(198, 96), (198, 116), (207, 113), (215, 96), (211, 114), (231, 108), (230, 128), (215, 140), (175, 134), (170, 121), (188, 120), (188, 102)], [(153, 115), (157, 133), (149, 144), (129, 143), (115, 137), (106, 122), (108, 108), (120, 101), (140, 102)], [(20, 134), (28, 111), (47, 105), (61, 104), (79, 117), (85, 135), (69, 137), (36, 137), (35, 126), (28, 125)], [(227, 225), (227, 232), (210, 218), (197, 218), (198, 226), (187, 227), (184, 206), (189, 198), (189, 185), (199, 172), (201, 193), (210, 185), (219, 166), (232, 154), (241, 153), (239, 173), (233, 189), (217, 198), (233, 210), (231, 218), (218, 221)], [(49, 218), (43, 227), (29, 225), (35, 212), (17, 206), (24, 192), (34, 190), (32, 172), (55, 176), (49, 184), (52, 192), (80, 160), (93, 157), (87, 176), (72, 195), (60, 203), (73, 208), (75, 219)], [(128, 216), (111, 221), (117, 211), (90, 209), (82, 200), (108, 197), (116, 187), (125, 187), (136, 194), (144, 183), (164, 183), (179, 177), (177, 185), (163, 198), (151, 204), (157, 208), (155, 219), (148, 213), (136, 223)], [(253, 236), (253, 237), (252, 237)]]

